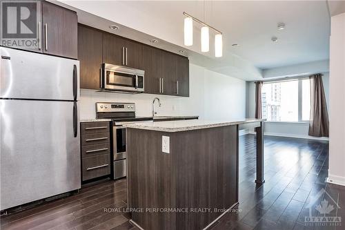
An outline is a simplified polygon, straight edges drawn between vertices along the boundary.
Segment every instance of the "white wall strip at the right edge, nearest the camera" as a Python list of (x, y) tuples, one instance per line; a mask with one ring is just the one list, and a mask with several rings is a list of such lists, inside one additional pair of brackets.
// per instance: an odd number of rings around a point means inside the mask
[(345, 185), (345, 13), (331, 17), (328, 182)]

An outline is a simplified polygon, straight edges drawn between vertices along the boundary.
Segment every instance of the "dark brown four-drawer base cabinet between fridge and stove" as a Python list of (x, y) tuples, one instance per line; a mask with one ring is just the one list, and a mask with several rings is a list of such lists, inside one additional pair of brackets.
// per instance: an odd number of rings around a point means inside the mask
[(81, 123), (82, 181), (110, 175), (109, 122)]

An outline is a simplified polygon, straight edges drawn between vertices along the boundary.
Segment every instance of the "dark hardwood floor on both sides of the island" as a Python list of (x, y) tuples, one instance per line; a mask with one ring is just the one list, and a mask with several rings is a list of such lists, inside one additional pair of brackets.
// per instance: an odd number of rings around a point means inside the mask
[[(344, 228), (318, 223), (305, 226), (304, 222), (310, 213), (321, 215), (315, 208), (324, 198), (328, 206), (322, 207), (328, 209), (321, 216), (345, 218), (345, 187), (324, 182), (328, 142), (266, 136), (264, 170), (266, 182), (258, 186), (254, 183), (255, 135), (240, 137), (239, 207), (237, 212), (226, 213), (213, 230)], [(105, 180), (83, 186), (68, 198), (3, 215), (1, 229), (134, 230), (128, 222), (130, 215), (118, 211), (126, 207), (126, 199), (126, 179)]]

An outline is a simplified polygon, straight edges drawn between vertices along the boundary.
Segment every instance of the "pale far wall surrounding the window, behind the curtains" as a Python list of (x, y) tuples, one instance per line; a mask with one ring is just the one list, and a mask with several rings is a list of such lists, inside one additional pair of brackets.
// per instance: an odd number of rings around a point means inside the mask
[[(326, 97), (327, 109), (329, 111), (329, 73), (324, 73), (322, 82), (324, 83), (324, 93)], [(255, 117), (255, 83), (248, 82), (248, 116)], [(311, 137), (308, 135), (309, 124), (306, 122), (265, 122), (264, 133), (266, 135), (276, 135), (283, 137), (300, 137), (317, 140), (328, 140), (327, 137)]]

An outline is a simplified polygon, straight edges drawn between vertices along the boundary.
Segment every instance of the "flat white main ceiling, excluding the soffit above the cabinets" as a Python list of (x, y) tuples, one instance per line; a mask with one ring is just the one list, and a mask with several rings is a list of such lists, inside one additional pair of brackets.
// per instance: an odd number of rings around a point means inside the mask
[[(326, 1), (128, 1), (126, 4), (155, 15), (157, 21), (166, 22), (165, 26), (181, 28), (181, 39), (182, 12), (186, 11), (221, 30), (224, 49), (258, 68), (328, 59), (330, 17)], [(279, 22), (286, 23), (286, 30), (277, 30)], [(278, 37), (277, 43), (270, 40), (272, 36)]]

